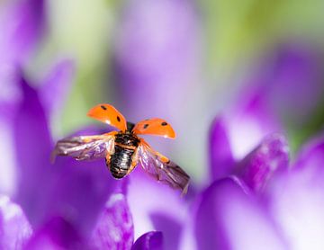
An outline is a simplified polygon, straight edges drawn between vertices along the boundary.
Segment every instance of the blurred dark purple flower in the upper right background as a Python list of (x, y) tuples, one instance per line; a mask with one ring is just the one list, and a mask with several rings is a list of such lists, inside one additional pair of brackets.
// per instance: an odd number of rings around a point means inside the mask
[(324, 94), (320, 49), (293, 41), (281, 44), (256, 67), (243, 86), (284, 122), (299, 127), (311, 119)]

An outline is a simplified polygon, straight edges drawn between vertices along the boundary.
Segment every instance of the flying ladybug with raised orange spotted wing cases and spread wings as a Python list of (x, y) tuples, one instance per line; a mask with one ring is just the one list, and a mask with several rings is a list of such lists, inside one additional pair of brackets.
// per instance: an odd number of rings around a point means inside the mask
[(72, 156), (76, 160), (104, 158), (112, 176), (116, 179), (130, 174), (139, 163), (143, 170), (157, 181), (183, 193), (187, 191), (189, 175), (139, 137), (139, 135), (156, 135), (175, 138), (175, 131), (170, 124), (159, 118), (134, 124), (126, 121), (121, 112), (106, 103), (96, 105), (87, 115), (117, 130), (103, 135), (58, 140), (53, 151), (54, 156)]

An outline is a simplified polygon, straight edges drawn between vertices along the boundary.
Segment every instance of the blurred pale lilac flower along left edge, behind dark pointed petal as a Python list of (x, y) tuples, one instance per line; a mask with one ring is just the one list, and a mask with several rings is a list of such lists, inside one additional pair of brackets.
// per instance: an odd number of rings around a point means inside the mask
[(26, 63), (40, 40), (44, 18), (42, 0), (6, 1), (0, 7), (0, 191), (14, 192), (14, 156), (11, 148), (12, 117), (22, 93), (15, 84), (20, 66)]

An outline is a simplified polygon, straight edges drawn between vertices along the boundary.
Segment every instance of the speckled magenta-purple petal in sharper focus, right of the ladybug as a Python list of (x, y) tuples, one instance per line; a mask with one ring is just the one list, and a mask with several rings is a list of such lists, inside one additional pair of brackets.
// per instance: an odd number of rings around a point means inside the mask
[(248, 154), (234, 172), (255, 192), (262, 192), (268, 180), (288, 169), (289, 148), (284, 136), (272, 134)]

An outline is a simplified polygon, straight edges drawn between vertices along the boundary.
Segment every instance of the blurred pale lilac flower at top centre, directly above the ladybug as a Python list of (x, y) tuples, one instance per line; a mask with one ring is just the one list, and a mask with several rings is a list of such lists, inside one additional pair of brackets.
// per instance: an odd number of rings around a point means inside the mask
[(190, 90), (197, 66), (194, 6), (187, 0), (132, 0), (122, 17), (115, 70), (127, 100), (121, 102), (127, 103), (125, 115), (132, 118), (136, 110), (139, 119), (154, 114), (167, 119), (187, 99), (184, 86)]

